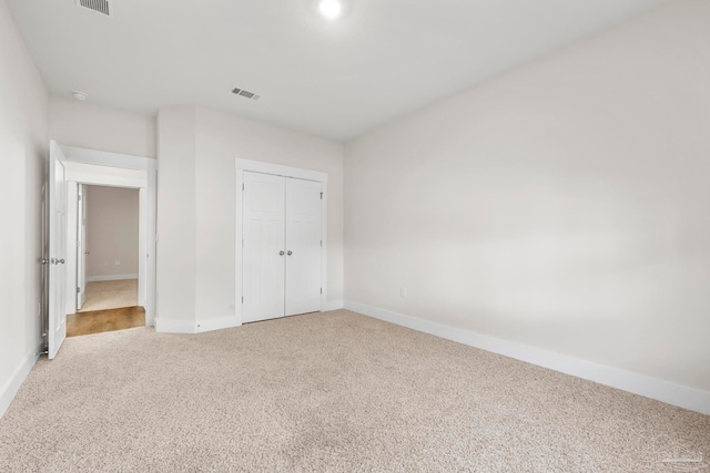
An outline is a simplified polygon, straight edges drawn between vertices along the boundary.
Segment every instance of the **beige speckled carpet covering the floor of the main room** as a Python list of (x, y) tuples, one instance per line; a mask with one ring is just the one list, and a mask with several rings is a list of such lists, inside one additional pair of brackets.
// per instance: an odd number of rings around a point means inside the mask
[(345, 310), (67, 339), (0, 420), (3, 472), (647, 473), (709, 455), (710, 417)]

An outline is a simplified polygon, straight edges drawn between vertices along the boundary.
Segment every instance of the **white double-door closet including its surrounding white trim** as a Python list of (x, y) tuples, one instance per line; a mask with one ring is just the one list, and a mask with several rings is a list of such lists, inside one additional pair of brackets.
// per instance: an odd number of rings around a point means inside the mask
[(327, 174), (236, 160), (239, 323), (322, 311)]

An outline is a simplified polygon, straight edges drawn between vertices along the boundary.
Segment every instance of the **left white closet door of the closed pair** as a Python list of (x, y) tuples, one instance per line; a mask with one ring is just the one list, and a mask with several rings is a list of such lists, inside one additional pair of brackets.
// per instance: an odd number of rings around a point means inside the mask
[(284, 316), (285, 177), (244, 173), (243, 321)]

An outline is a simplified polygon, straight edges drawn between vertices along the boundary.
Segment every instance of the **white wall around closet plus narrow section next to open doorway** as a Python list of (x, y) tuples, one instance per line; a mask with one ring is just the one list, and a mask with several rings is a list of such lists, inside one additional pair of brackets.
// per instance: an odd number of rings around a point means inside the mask
[[(201, 107), (161, 109), (159, 144), (161, 321), (187, 317), (190, 307), (197, 322), (234, 316), (235, 157), (328, 173), (327, 300), (341, 304), (342, 144)], [(190, 268), (194, 258), (194, 271), (176, 266), (170, 254), (183, 255)], [(179, 308), (163, 296), (179, 292), (181, 297), (194, 296), (194, 304)]]

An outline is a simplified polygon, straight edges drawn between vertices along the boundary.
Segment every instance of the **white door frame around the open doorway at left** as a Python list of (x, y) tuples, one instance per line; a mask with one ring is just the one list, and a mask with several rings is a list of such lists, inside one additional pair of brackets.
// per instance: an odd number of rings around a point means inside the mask
[[(67, 181), (71, 192), (79, 184), (139, 189), (139, 292), (138, 302), (145, 308), (145, 325), (155, 325), (155, 202), (158, 162), (154, 158), (60, 146), (68, 166)], [(73, 213), (77, 217), (77, 212)], [(70, 225), (72, 223), (70, 222)], [(77, 232), (69, 235), (67, 246), (73, 264), (67, 267), (67, 277), (77, 287)], [(77, 298), (73, 297), (75, 309)], [(67, 304), (71, 309), (70, 304)], [(70, 311), (69, 313), (74, 313)]]

